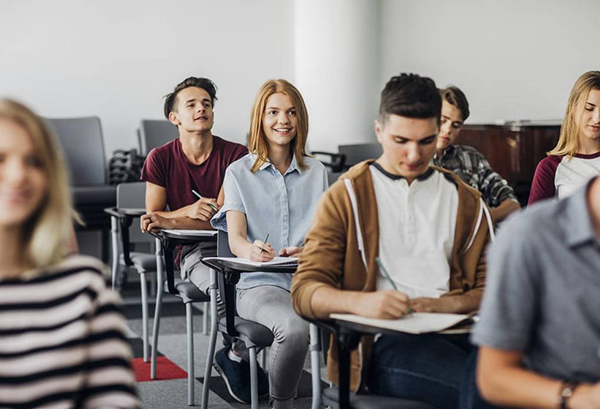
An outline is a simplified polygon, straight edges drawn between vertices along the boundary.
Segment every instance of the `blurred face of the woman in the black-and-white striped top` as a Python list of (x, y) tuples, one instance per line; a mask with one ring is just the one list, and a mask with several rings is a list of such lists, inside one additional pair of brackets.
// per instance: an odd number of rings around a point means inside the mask
[(22, 226), (40, 207), (48, 178), (32, 137), (0, 119), (0, 228)]

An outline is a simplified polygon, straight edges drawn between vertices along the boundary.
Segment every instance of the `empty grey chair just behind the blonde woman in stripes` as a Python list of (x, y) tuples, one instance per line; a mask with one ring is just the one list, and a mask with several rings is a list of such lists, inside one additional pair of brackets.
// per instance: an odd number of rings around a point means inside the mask
[(102, 258), (108, 259), (110, 219), (104, 209), (115, 206), (116, 188), (108, 184), (102, 127), (98, 117), (47, 118), (56, 134), (71, 174), (73, 204), (81, 215), (81, 230), (102, 231)]

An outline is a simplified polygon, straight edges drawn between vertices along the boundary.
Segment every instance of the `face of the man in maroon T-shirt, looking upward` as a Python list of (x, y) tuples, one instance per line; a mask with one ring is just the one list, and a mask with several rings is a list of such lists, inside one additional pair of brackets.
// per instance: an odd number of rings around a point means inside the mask
[(169, 121), (187, 133), (210, 132), (214, 124), (210, 95), (199, 87), (184, 88), (177, 94)]

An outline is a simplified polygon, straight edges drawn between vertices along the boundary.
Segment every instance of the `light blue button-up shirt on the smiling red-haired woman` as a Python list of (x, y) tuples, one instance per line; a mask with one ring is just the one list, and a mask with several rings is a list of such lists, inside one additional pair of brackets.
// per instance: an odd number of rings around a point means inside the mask
[[(313, 220), (319, 198), (327, 190), (327, 170), (317, 159), (305, 157), (308, 168), (301, 170), (296, 157), (282, 175), (270, 162), (256, 173), (250, 168), (256, 155), (248, 154), (225, 172), (225, 203), (212, 218), (214, 228), (227, 231), (226, 213), (237, 210), (246, 215), (248, 241), (264, 240), (278, 253), (284, 247), (301, 246)], [(274, 285), (289, 290), (291, 274), (242, 274), (238, 288)]]

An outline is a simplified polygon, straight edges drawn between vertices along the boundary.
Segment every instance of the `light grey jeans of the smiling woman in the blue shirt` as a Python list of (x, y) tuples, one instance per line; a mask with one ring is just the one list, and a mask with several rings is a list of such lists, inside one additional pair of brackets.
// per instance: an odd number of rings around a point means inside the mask
[(275, 340), (269, 353), (269, 388), (274, 408), (292, 407), (308, 351), (308, 322), (292, 308), (289, 291), (264, 285), (239, 289), (240, 317), (269, 328)]

